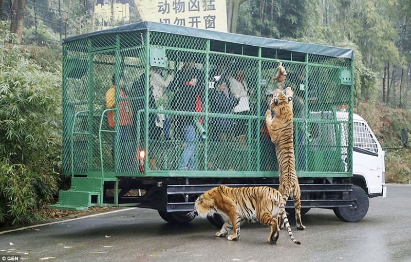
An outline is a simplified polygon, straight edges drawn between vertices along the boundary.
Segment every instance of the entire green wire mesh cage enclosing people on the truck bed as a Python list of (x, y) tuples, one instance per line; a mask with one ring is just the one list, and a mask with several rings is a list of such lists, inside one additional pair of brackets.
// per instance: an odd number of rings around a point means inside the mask
[[(147, 38), (147, 36), (150, 36)], [(147, 42), (148, 41), (148, 42)], [(135, 31), (65, 43), (64, 168), (70, 171), (74, 124), (75, 173), (101, 171), (141, 175), (178, 170), (278, 171), (275, 147), (265, 130), (265, 114), (277, 83), (278, 62), (294, 91), (294, 151), (297, 171), (349, 172), (348, 114), (351, 85), (341, 72), (351, 61), (211, 41), (179, 34)], [(148, 54), (148, 57), (147, 57)], [(154, 56), (164, 64), (150, 65)], [(148, 65), (150, 74), (145, 76)], [(115, 127), (103, 116), (105, 95), (115, 83)], [(214, 77), (219, 76), (217, 81)], [(148, 91), (148, 92), (146, 92)], [(122, 110), (130, 123), (122, 125)], [(123, 108), (123, 109), (122, 109)], [(342, 115), (341, 115), (341, 114)], [(89, 133), (89, 134), (88, 134)], [(240, 173), (241, 174), (241, 173)]]

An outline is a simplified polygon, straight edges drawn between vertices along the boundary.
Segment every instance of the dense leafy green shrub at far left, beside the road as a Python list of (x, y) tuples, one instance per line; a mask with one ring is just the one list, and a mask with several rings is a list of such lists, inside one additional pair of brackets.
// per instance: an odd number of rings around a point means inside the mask
[(42, 69), (0, 24), (0, 223), (39, 218), (58, 190), (61, 75)]

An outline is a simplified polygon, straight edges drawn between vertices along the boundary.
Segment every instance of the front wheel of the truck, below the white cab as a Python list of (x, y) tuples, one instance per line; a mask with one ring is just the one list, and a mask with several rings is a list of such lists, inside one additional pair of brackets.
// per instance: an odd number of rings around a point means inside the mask
[(349, 199), (353, 200), (353, 206), (351, 208), (334, 208), (334, 214), (345, 222), (358, 222), (368, 212), (369, 199), (367, 193), (360, 186), (353, 185)]

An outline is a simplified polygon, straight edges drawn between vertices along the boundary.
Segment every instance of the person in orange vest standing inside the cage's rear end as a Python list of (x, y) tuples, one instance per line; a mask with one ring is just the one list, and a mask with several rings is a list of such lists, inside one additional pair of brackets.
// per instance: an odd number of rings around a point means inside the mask
[[(105, 102), (106, 108), (116, 108), (116, 76), (113, 75), (111, 79), (113, 85), (107, 90), (105, 94)], [(133, 154), (131, 150), (132, 141), (131, 139), (131, 125), (133, 121), (133, 114), (130, 107), (130, 102), (127, 100), (126, 93), (123, 90), (124, 87), (124, 80), (120, 77), (119, 80), (120, 90), (119, 90), (119, 106), (117, 109), (119, 110), (119, 128), (118, 128), (118, 140), (119, 140), (119, 155), (120, 155), (120, 165), (119, 169), (122, 172), (130, 171), (130, 167), (132, 166), (133, 162)], [(108, 111), (107, 118), (108, 118), (108, 126), (111, 128), (115, 127), (115, 117), (116, 111)], [(111, 143), (112, 151), (114, 153), (115, 149), (115, 136), (113, 136), (113, 141)]]

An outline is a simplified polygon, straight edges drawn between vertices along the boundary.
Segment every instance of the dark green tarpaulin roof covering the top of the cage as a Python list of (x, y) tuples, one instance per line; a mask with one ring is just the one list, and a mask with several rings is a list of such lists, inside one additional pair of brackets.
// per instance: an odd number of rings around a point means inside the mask
[(269, 38), (260, 38), (257, 36), (217, 32), (206, 29), (197, 29), (185, 26), (176, 26), (170, 24), (163, 24), (157, 22), (138, 22), (134, 24), (114, 27), (106, 30), (96, 31), (92, 33), (73, 36), (63, 40), (64, 43), (69, 43), (76, 40), (92, 38), (97, 35), (127, 33), (134, 31), (152, 31), (171, 34), (180, 34), (186, 36), (194, 36), (196, 38), (210, 39), (223, 41), (228, 43), (236, 43), (242, 45), (250, 45), (264, 48), (272, 48), (279, 50), (287, 50), (293, 52), (302, 52), (309, 54), (326, 55), (327, 57), (348, 58), (354, 59), (354, 52), (352, 49), (323, 46), (317, 44), (300, 43), (294, 41), (285, 41)]

